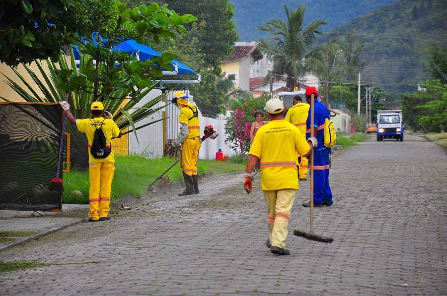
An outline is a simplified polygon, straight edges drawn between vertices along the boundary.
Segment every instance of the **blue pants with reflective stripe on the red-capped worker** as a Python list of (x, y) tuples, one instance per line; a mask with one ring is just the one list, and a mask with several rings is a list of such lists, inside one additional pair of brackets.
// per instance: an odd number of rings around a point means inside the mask
[(332, 204), (332, 190), (329, 185), (329, 154), (331, 149), (314, 151), (313, 156), (313, 203)]

